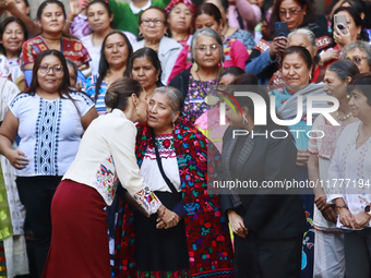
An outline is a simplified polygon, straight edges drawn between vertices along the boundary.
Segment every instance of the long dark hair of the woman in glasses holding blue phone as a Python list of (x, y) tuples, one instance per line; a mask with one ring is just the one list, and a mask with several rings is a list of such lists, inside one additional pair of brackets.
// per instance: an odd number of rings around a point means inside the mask
[[(276, 0), (273, 7), (270, 23), (267, 25), (266, 31), (263, 33), (263, 37), (265, 39), (272, 40), (275, 36), (275, 24), (276, 22), (280, 22), (279, 8), (283, 1), (284, 0)], [(295, 2), (297, 2), (301, 8), (304, 8), (304, 7), (307, 8), (304, 20), (302, 21), (299, 28), (308, 25), (309, 23), (314, 23), (315, 22), (315, 9), (314, 9), (313, 3), (309, 0), (295, 0)]]

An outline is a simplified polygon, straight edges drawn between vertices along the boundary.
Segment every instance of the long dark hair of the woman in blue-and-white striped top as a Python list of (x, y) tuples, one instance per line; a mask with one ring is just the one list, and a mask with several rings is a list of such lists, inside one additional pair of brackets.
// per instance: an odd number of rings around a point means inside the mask
[[(101, 82), (103, 82), (103, 78), (105, 77), (108, 69), (109, 69), (109, 64), (107, 62), (107, 59), (106, 59), (106, 53), (105, 53), (105, 48), (106, 48), (106, 41), (107, 41), (107, 38), (113, 34), (119, 34), (120, 36), (123, 37), (127, 46), (128, 46), (128, 49), (129, 49), (129, 55), (128, 55), (128, 60), (129, 60), (129, 57), (132, 56), (133, 53), (133, 47), (131, 46), (128, 37), (125, 34), (123, 34), (121, 31), (117, 31), (117, 29), (113, 29), (111, 32), (109, 32), (105, 39), (103, 40), (103, 44), (101, 44), (101, 48), (100, 48), (100, 61), (99, 61), (99, 76), (97, 78), (97, 83), (95, 84), (95, 96), (94, 96), (94, 101), (97, 101), (98, 99), (98, 95), (99, 95), (99, 90), (100, 90), (100, 85), (101, 85)], [(129, 76), (129, 69), (128, 69), (128, 60), (127, 60), (127, 69), (123, 73), (123, 76)]]

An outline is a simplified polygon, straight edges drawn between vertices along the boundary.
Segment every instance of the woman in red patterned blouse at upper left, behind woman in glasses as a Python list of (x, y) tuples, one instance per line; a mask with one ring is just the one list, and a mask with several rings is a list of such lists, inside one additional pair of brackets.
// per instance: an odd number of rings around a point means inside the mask
[[(91, 57), (83, 44), (79, 39), (62, 36), (65, 22), (62, 2), (58, 0), (44, 1), (37, 10), (37, 20), (41, 26), (41, 34), (24, 43), (22, 49), (22, 62), (28, 85), (32, 81), (32, 69), (36, 57), (47, 49), (62, 52), (65, 58), (77, 64), (79, 70), (88, 68)], [(82, 74), (79, 77), (85, 80)]]

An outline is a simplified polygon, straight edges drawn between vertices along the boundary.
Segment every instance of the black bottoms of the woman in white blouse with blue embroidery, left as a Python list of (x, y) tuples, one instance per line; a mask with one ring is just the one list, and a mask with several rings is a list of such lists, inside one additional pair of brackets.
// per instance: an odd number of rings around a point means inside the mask
[(36, 274), (32, 274), (32, 277), (41, 276), (48, 256), (51, 240), (50, 205), (61, 179), (60, 176), (16, 178), (20, 200), (26, 208), (26, 219), (34, 235), (34, 252), (28, 253), (29, 264), (36, 266)]

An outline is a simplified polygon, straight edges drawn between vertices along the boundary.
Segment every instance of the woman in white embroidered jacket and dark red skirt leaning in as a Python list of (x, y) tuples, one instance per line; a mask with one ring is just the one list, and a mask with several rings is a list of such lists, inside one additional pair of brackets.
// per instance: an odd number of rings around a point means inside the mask
[(158, 213), (165, 223), (171, 221), (172, 216), (145, 185), (136, 165), (134, 122), (147, 118), (143, 87), (137, 81), (121, 77), (111, 84), (105, 100), (112, 112), (93, 121), (85, 131), (52, 200), (45, 278), (110, 277), (105, 207), (112, 204), (119, 182), (145, 217)]

